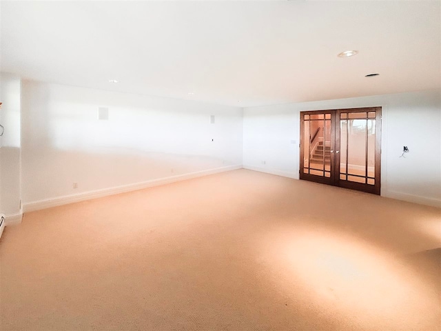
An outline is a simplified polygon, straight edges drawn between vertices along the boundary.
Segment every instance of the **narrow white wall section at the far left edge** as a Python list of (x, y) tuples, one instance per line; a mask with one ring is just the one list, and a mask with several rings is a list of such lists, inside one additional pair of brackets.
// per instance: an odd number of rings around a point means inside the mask
[(0, 140), (0, 213), (8, 219), (20, 210), (20, 90), (19, 77), (0, 74), (0, 124), (5, 128)]

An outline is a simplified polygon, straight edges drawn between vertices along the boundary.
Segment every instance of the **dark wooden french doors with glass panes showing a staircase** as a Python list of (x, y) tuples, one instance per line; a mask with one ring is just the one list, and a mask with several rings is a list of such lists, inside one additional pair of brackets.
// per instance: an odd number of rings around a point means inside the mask
[(300, 179), (380, 194), (381, 107), (300, 112)]

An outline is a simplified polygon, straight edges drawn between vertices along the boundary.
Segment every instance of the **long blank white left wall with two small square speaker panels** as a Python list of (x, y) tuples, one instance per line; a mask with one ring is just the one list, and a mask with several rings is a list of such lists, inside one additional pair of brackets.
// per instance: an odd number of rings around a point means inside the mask
[(241, 168), (242, 119), (241, 108), (23, 81), (25, 211)]

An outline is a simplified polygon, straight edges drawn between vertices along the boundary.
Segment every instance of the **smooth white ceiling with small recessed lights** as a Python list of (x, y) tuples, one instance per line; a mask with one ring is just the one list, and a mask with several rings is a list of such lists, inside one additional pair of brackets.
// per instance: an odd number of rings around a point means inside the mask
[(0, 3), (26, 79), (240, 107), (441, 88), (440, 1)]

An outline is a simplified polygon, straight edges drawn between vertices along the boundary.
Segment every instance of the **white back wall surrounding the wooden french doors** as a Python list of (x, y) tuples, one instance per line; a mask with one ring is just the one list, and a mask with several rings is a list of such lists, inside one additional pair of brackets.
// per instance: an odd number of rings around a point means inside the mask
[(441, 207), (439, 90), (245, 108), (244, 168), (298, 179), (300, 111), (372, 106), (382, 106), (382, 196)]

